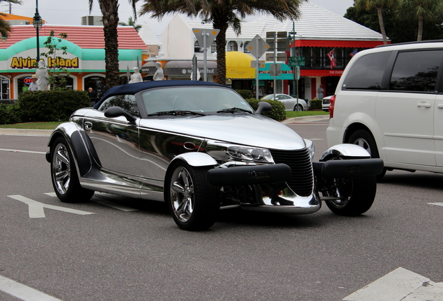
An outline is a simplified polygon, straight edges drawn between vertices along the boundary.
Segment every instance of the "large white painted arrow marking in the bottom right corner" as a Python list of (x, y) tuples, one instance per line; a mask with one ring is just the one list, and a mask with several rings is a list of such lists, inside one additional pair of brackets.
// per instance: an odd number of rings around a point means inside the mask
[(345, 297), (343, 301), (443, 301), (443, 282), (398, 268)]

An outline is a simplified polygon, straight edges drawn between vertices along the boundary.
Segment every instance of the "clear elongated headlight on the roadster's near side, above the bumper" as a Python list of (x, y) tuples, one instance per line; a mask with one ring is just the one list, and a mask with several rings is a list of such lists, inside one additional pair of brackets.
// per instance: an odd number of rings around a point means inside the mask
[(274, 163), (272, 155), (267, 148), (240, 146), (226, 142), (208, 141), (205, 150), (215, 160)]

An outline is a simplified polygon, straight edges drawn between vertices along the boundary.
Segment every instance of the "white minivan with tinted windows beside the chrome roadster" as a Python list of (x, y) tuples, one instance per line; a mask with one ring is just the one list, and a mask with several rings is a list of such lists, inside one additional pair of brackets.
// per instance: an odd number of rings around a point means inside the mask
[(359, 52), (331, 99), (328, 145), (358, 144), (385, 171), (443, 173), (442, 63), (441, 40)]

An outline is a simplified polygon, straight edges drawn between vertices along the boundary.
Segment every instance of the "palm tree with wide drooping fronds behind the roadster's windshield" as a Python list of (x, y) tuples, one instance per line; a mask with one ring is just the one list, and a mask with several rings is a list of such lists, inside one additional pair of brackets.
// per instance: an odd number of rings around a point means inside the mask
[(241, 33), (241, 19), (256, 13), (269, 13), (278, 20), (296, 20), (301, 1), (306, 0), (144, 0), (139, 15), (152, 13), (151, 17), (162, 19), (169, 13), (182, 13), (188, 17), (201, 17), (203, 22), (212, 23), (220, 32), (215, 39), (217, 45), (217, 82), (226, 84), (226, 30), (232, 26)]

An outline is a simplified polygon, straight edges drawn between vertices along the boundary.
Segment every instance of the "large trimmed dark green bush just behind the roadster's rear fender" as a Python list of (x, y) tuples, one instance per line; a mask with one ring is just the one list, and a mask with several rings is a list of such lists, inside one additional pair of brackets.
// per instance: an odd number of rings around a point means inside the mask
[(85, 91), (57, 89), (53, 91), (27, 91), (18, 98), (23, 122), (67, 121), (82, 107), (91, 107)]

